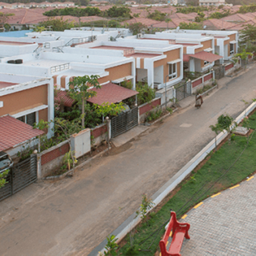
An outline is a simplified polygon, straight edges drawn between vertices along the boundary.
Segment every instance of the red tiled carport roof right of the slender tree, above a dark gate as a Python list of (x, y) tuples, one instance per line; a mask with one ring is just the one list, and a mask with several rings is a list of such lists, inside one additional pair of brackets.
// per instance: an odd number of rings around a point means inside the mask
[(88, 102), (101, 105), (102, 103), (117, 103), (125, 100), (126, 98), (130, 98), (131, 96), (135, 96), (139, 92), (124, 88), (122, 86), (117, 86), (117, 84), (104, 84), (100, 86), (100, 89), (93, 88), (97, 95), (90, 98)]

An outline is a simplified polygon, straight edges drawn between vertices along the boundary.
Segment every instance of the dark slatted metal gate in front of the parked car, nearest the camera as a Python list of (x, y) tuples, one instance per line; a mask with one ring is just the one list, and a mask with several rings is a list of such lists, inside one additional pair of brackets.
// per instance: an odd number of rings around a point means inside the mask
[(7, 183), (0, 189), (0, 201), (13, 195), (37, 180), (36, 155), (15, 164), (6, 177)]

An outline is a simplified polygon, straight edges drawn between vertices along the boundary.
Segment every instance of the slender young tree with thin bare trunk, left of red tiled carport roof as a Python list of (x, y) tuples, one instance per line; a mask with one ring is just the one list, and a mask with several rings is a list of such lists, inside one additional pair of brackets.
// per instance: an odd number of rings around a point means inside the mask
[(88, 98), (96, 96), (94, 90), (88, 90), (90, 87), (100, 89), (98, 75), (84, 75), (83, 77), (73, 77), (73, 81), (69, 82), (69, 92), (71, 98), (77, 100), (78, 104), (82, 104), (82, 129), (84, 129), (84, 103)]

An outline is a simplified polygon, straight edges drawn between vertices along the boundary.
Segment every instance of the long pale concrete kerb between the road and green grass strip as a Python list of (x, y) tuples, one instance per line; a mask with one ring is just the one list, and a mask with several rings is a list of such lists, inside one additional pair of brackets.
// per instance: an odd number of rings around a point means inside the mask
[[(238, 117), (236, 117), (235, 122), (241, 123), (242, 119), (249, 115), (254, 109), (256, 108), (256, 102), (253, 102), (249, 107), (247, 107)], [(225, 137), (228, 135), (227, 131), (224, 131), (216, 137), (217, 145), (220, 144), (220, 142), (225, 139)], [(155, 203), (154, 207), (156, 207), (163, 199), (166, 197), (187, 175), (215, 148), (215, 139), (212, 139), (210, 143), (203, 148), (196, 156), (194, 156), (177, 174), (174, 175), (167, 183), (165, 183), (154, 195), (152, 195), (152, 200)], [(154, 209), (154, 208), (152, 208)], [(123, 222), (116, 230), (111, 232), (111, 234), (114, 234), (116, 236), (117, 243), (121, 241), (126, 234), (128, 234), (139, 222), (141, 219), (139, 216), (136, 218), (136, 213), (134, 212)], [(100, 253), (104, 253), (106, 246), (106, 239), (100, 243), (88, 256), (96, 256)]]

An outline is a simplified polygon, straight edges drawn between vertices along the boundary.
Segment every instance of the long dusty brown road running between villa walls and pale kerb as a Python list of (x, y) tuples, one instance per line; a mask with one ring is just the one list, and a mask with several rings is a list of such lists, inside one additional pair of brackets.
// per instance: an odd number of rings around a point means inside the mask
[(225, 78), (202, 108), (180, 110), (137, 139), (93, 160), (71, 179), (31, 185), (0, 202), (0, 255), (88, 255), (153, 195), (214, 133), (219, 115), (236, 117), (256, 98), (255, 67)]

